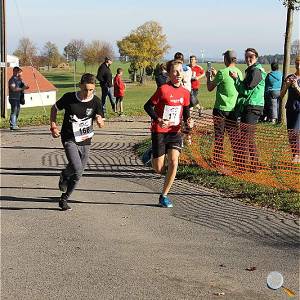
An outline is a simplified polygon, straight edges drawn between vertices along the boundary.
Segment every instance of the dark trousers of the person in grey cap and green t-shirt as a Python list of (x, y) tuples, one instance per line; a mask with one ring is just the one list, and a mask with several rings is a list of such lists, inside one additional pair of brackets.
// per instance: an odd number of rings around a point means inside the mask
[(233, 161), (235, 162), (238, 157), (238, 127), (236, 116), (233, 111), (223, 111), (214, 108), (214, 130), (215, 130), (215, 144), (213, 152), (213, 162), (216, 165), (224, 164), (224, 135), (225, 131), (229, 136), (229, 140), (233, 152)]

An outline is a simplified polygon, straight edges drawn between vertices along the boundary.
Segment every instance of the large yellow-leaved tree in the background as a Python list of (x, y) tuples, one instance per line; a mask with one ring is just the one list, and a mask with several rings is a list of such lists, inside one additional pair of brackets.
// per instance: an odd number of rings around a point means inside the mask
[(170, 46), (163, 34), (162, 26), (149, 21), (133, 30), (128, 36), (117, 41), (121, 57), (126, 57), (140, 70), (143, 81), (146, 67), (154, 67), (167, 53)]

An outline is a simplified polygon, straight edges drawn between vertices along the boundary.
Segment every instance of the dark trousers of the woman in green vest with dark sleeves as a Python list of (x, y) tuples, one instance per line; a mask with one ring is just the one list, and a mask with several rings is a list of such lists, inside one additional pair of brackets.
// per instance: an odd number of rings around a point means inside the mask
[(241, 112), (240, 124), (240, 164), (244, 169), (250, 163), (250, 170), (255, 171), (258, 164), (258, 152), (255, 142), (256, 124), (263, 113), (262, 106), (247, 105)]

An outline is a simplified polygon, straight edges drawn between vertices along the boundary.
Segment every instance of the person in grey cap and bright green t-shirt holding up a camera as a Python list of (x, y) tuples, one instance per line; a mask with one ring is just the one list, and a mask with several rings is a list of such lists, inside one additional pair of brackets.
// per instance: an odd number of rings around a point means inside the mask
[(215, 144), (213, 152), (213, 164), (224, 168), (224, 134), (227, 131), (232, 149), (233, 160), (237, 157), (237, 126), (234, 108), (238, 92), (230, 72), (235, 72), (242, 79), (242, 72), (236, 67), (237, 55), (233, 50), (223, 53), (225, 68), (217, 71), (212, 68), (206, 72), (207, 89), (209, 92), (216, 88), (216, 101), (213, 109)]

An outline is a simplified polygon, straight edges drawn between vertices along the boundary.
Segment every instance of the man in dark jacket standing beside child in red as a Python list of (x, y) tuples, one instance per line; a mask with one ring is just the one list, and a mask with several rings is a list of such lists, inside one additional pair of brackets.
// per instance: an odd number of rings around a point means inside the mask
[(106, 97), (108, 96), (111, 108), (113, 112), (116, 112), (116, 104), (113, 98), (112, 92), (112, 73), (110, 70), (110, 65), (112, 64), (112, 59), (110, 57), (105, 57), (104, 62), (99, 66), (97, 72), (97, 79), (101, 86), (101, 102), (103, 113), (106, 113)]

